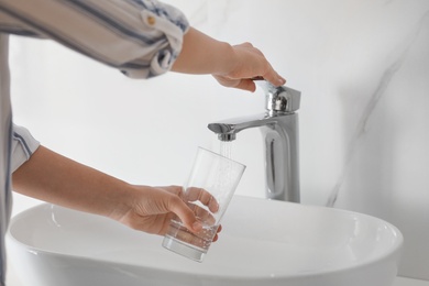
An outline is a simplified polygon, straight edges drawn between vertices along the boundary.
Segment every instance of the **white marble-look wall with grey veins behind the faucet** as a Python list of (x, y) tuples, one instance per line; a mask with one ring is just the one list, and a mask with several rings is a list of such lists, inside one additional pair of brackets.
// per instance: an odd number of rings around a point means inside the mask
[[(260, 47), (301, 90), (304, 204), (381, 217), (405, 235), (400, 274), (429, 279), (429, 2), (182, 0), (190, 22)], [(46, 146), (122, 179), (182, 184), (207, 123), (263, 111), (261, 91), (210, 76), (131, 80), (48, 41), (12, 42), (15, 122)], [(238, 194), (264, 194), (257, 131), (239, 134)], [(334, 196), (337, 195), (338, 196)], [(33, 200), (16, 196), (18, 212)]]

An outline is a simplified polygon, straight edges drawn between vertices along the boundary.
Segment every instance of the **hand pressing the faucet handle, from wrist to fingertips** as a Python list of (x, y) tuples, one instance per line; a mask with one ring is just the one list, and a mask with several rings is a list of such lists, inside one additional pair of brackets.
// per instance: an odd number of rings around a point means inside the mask
[(224, 74), (213, 74), (222, 86), (254, 91), (255, 78), (265, 79), (274, 86), (286, 82), (286, 79), (274, 70), (264, 54), (251, 43), (234, 45), (232, 50), (232, 61), (229, 62), (232, 68)]

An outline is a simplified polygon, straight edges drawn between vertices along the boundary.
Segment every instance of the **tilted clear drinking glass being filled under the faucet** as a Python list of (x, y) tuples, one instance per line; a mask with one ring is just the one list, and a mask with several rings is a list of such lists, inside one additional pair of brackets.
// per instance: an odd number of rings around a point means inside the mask
[(202, 262), (217, 233), (245, 166), (215, 152), (198, 147), (183, 199), (202, 224), (198, 233), (186, 229), (176, 217), (170, 221), (163, 246)]

